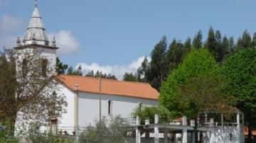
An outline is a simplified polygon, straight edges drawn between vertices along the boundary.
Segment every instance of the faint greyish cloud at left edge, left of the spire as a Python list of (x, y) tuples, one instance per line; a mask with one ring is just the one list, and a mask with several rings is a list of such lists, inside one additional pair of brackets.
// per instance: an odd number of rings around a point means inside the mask
[(0, 31), (1, 33), (10, 33), (16, 30), (20, 30), (23, 27), (22, 18), (3, 15), (0, 19)]

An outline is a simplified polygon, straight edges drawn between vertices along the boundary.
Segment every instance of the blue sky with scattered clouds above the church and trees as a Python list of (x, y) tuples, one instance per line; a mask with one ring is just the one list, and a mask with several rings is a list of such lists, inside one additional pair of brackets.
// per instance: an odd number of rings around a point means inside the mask
[[(210, 26), (235, 38), (256, 32), (254, 0), (38, 0), (38, 7), (47, 33), (63, 45), (63, 62), (112, 74), (134, 72), (163, 35), (186, 40)], [(0, 0), (1, 46), (23, 37), (32, 11), (33, 0)]]

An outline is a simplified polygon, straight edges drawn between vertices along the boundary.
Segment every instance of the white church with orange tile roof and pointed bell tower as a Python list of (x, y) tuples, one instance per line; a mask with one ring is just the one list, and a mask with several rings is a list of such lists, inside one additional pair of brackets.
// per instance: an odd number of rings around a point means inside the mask
[[(33, 50), (43, 58), (42, 74), (56, 76), (59, 91), (68, 106), (61, 118), (55, 119), (55, 132), (77, 131), (93, 124), (95, 120), (112, 115), (131, 118), (134, 108), (139, 105), (158, 105), (159, 92), (147, 83), (97, 79), (85, 76), (56, 75), (55, 64), (58, 47), (56, 40), (50, 42), (43, 25), (38, 4), (35, 4), (31, 21), (21, 42), (16, 41), (15, 50), (26, 52)], [(61, 48), (61, 47), (60, 47)], [(20, 62), (26, 62), (21, 56)], [(50, 73), (43, 73), (43, 68), (50, 68)]]

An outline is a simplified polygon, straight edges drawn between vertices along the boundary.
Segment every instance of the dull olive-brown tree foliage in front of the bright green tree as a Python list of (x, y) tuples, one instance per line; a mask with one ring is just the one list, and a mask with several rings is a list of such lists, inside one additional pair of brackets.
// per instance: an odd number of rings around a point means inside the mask
[(225, 86), (225, 80), (218, 74), (193, 77), (187, 84), (178, 87), (177, 96), (183, 108), (182, 113), (195, 119), (198, 113), (232, 111), (235, 98), (224, 92)]

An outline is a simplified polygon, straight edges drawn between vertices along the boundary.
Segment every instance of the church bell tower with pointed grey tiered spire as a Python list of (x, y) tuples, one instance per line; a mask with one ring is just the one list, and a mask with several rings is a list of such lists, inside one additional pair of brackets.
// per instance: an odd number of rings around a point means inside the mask
[(21, 39), (18, 38), (14, 49), (18, 53), (23, 53), (18, 56), (18, 62), (23, 63), (23, 61), (26, 60), (24, 59), (26, 57), (25, 54), (31, 52), (36, 53), (42, 59), (42, 65), (38, 68), (42, 68), (43, 71), (43, 68), (47, 67), (50, 69), (50, 73), (47, 73), (47, 75), (55, 75), (56, 51), (58, 50), (58, 47), (56, 46), (55, 38), (53, 38), (51, 43), (48, 40), (46, 28), (43, 25), (36, 0), (31, 20), (28, 24), (23, 40), (21, 42)]

